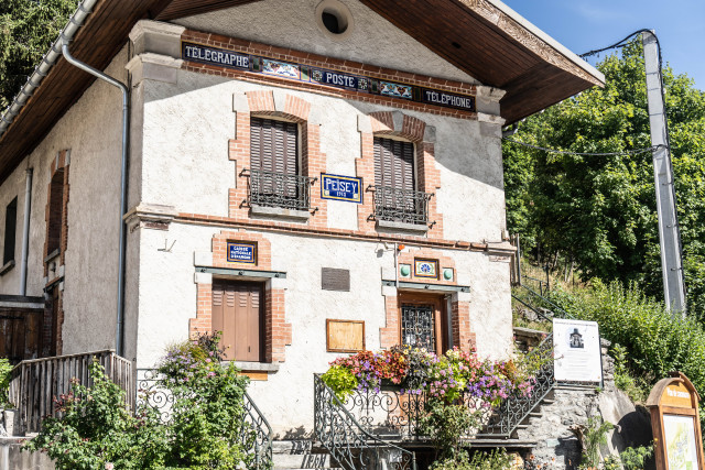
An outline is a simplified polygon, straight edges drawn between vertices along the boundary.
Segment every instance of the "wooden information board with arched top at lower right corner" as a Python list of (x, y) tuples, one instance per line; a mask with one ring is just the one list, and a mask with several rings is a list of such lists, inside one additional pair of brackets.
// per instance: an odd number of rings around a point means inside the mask
[(647, 401), (658, 470), (703, 470), (699, 395), (680, 372), (660, 380)]

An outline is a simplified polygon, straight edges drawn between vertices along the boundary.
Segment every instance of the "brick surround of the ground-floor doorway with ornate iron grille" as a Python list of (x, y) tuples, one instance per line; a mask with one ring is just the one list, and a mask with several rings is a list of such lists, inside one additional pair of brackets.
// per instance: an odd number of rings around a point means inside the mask
[[(413, 266), (414, 258), (423, 258), (429, 260), (438, 260), (440, 274), (444, 269), (452, 269), (455, 272), (453, 281), (442, 280), (442, 275), (438, 280), (423, 278), (414, 280), (414, 282), (423, 282), (427, 284), (443, 284), (443, 285), (457, 285), (457, 270), (455, 269), (455, 261), (453, 258), (444, 255), (443, 252), (432, 249), (409, 249), (399, 253), (398, 263), (411, 264)], [(412, 269), (413, 272), (413, 269)], [(380, 328), (380, 347), (383, 349), (391, 348), (401, 342), (399, 337), (400, 328), (400, 315), (399, 315), (399, 293), (397, 289), (389, 292), (389, 295), (384, 296), (384, 313), (387, 317), (387, 324)], [(470, 303), (466, 300), (459, 300), (458, 295), (454, 295), (451, 299), (451, 328), (453, 331), (453, 346), (457, 346), (464, 351), (470, 351), (475, 349), (476, 338), (473, 332), (473, 326), (470, 325)], [(447, 315), (447, 313), (446, 313)]]

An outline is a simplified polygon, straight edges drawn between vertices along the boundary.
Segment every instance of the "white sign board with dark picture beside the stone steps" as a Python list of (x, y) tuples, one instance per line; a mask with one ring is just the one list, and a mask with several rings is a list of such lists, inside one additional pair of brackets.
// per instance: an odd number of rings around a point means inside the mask
[(599, 329), (596, 321), (553, 319), (555, 380), (603, 381)]

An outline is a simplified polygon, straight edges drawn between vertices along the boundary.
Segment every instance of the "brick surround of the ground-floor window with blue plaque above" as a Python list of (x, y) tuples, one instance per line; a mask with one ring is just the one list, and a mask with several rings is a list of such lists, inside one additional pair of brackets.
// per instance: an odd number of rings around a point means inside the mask
[[(228, 241), (247, 241), (257, 243), (258, 262), (236, 263), (227, 261)], [(213, 267), (243, 269), (250, 271), (271, 271), (271, 244), (260, 233), (247, 231), (221, 231), (213, 237)], [(210, 276), (197, 277), (196, 282), (196, 318), (188, 320), (188, 335), (213, 331), (213, 280)], [(239, 281), (248, 278), (238, 277)], [(284, 362), (286, 346), (292, 342), (292, 327), (285, 321), (284, 289), (273, 285), (270, 280), (264, 284), (264, 362)]]

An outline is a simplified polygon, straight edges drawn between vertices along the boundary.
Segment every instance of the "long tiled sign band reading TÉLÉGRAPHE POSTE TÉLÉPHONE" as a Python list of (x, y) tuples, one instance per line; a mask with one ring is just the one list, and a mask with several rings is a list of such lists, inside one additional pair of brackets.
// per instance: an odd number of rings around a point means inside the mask
[(408, 101), (424, 102), (444, 108), (475, 111), (475, 97), (458, 95), (414, 85), (380, 80), (372, 77), (346, 74), (325, 68), (310, 67), (292, 62), (275, 61), (257, 55), (240, 54), (218, 47), (195, 43), (182, 43), (182, 56), (186, 61), (213, 64), (221, 67), (247, 70), (254, 74), (274, 75), (295, 81), (343, 88), (369, 95), (387, 96)]

